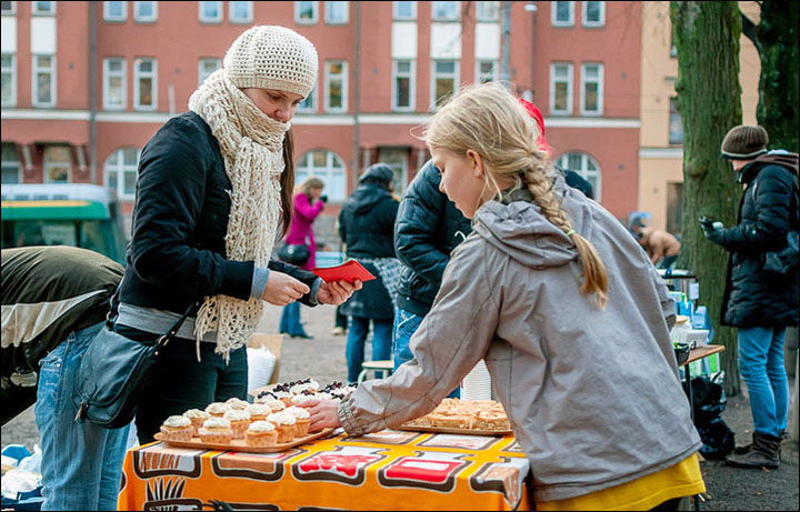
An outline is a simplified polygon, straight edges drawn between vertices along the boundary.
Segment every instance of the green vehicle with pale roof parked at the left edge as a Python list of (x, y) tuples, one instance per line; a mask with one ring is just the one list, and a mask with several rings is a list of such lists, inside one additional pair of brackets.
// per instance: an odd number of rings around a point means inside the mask
[(117, 201), (102, 187), (78, 183), (3, 184), (2, 249), (72, 245), (124, 264)]

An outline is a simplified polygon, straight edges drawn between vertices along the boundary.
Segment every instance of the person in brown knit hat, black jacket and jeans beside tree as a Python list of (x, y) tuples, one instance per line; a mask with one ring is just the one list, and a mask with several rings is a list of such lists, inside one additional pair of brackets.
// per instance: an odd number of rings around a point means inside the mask
[(798, 268), (772, 272), (767, 253), (787, 247), (787, 235), (800, 229), (798, 155), (767, 151), (761, 127), (736, 127), (722, 141), (722, 158), (731, 160), (737, 180), (746, 185), (737, 225), (704, 223), (706, 237), (730, 257), (722, 303), (722, 323), (739, 328), (739, 373), (750, 394), (753, 435), (750, 448), (728, 459), (738, 468), (776, 469), (787, 425), (789, 386), (783, 364), (783, 337), (798, 324)]

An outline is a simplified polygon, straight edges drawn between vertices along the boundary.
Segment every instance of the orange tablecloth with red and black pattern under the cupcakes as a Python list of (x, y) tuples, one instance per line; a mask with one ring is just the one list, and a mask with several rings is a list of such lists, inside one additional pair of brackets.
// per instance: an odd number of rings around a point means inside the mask
[(384, 430), (267, 454), (151, 443), (126, 454), (119, 509), (530, 510), (529, 470), (513, 435)]

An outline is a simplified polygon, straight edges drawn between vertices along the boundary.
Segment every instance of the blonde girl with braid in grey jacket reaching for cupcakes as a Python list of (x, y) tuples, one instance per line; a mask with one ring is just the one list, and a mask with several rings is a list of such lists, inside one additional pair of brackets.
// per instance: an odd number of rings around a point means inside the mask
[(473, 221), (414, 359), (312, 429), (351, 435), (430, 412), (481, 359), (533, 475), (539, 510), (671, 509), (704, 490), (702, 445), (678, 378), (674, 303), (647, 254), (566, 185), (506, 89), (468, 88), (424, 132), (441, 190)]

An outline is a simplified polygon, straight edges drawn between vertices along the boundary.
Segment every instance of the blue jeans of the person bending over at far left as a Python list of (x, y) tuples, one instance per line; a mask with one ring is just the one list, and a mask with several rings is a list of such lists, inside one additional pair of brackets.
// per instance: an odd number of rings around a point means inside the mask
[(42, 510), (117, 510), (128, 430), (78, 423), (72, 389), (103, 323), (71, 332), (41, 361), (34, 416), (42, 443)]

